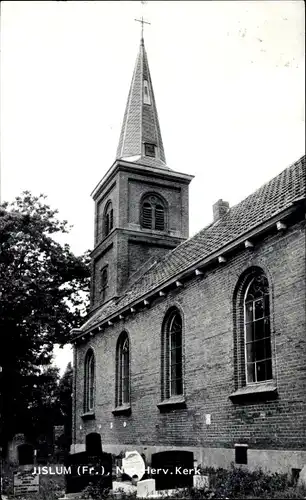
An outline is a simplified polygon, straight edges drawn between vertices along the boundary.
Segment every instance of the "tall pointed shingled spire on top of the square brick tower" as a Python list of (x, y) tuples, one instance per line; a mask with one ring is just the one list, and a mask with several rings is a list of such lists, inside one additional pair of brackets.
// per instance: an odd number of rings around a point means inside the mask
[(168, 168), (143, 38), (123, 118), (117, 159)]

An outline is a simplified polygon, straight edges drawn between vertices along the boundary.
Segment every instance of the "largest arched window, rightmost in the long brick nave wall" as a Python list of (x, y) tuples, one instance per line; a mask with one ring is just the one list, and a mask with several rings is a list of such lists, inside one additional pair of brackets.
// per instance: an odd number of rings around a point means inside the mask
[(269, 283), (263, 273), (253, 276), (244, 296), (246, 383), (272, 379)]

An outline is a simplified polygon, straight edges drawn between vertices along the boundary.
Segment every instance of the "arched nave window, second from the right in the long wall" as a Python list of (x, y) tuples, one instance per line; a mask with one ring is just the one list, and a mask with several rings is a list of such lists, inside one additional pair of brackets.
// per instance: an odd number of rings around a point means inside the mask
[(183, 322), (177, 309), (172, 309), (162, 332), (162, 399), (183, 394)]

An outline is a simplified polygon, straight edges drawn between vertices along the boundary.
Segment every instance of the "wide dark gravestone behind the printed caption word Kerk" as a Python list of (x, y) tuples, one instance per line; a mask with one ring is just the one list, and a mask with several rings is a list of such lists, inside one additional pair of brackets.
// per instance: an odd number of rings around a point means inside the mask
[[(191, 488), (193, 486), (193, 453), (191, 451), (162, 451), (153, 453), (152, 469), (161, 469), (158, 473), (152, 472), (156, 490), (176, 488)], [(188, 470), (188, 473), (184, 473)]]

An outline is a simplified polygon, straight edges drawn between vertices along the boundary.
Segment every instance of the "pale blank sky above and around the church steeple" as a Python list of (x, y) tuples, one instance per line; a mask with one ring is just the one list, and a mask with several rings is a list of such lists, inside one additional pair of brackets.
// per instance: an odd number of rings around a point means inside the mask
[[(170, 168), (194, 174), (190, 235), (305, 152), (304, 2), (1, 2), (1, 191), (45, 193), (93, 245), (143, 15)], [(64, 368), (70, 353), (60, 351)]]

